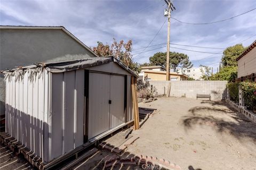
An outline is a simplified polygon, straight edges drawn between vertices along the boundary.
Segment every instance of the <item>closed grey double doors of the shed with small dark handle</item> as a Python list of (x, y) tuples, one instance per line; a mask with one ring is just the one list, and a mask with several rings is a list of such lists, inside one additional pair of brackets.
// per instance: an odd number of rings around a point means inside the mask
[(89, 73), (89, 139), (124, 123), (124, 83), (124, 76)]

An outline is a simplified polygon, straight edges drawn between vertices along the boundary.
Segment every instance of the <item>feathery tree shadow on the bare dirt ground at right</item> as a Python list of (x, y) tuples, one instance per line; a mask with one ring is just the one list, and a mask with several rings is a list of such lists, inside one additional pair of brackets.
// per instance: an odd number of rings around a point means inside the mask
[(190, 108), (189, 115), (182, 117), (182, 123), (186, 130), (193, 129), (195, 125), (209, 125), (217, 132), (228, 132), (238, 139), (249, 137), (256, 143), (256, 124), (254, 122), (229, 108), (223, 101), (202, 101), (201, 104), (210, 104), (211, 106)]

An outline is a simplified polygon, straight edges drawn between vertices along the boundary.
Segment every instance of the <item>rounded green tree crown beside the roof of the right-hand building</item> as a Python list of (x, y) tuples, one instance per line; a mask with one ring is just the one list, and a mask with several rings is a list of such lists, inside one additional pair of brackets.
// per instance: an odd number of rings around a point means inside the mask
[(237, 66), (236, 58), (245, 50), (242, 44), (237, 44), (226, 48), (223, 51), (223, 56), (221, 58), (223, 67), (225, 66)]

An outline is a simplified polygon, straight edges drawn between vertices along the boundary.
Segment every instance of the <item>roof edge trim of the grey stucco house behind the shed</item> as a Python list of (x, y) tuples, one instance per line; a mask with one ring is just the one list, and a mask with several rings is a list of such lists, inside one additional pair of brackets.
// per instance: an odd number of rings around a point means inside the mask
[(0, 29), (52, 29), (52, 30), (62, 30), (67, 35), (69, 35), (71, 38), (73, 38), (75, 41), (77, 41), (78, 44), (82, 45), (84, 48), (89, 50), (92, 54), (99, 57), (96, 53), (93, 52), (93, 50), (90, 47), (87, 47), (81, 40), (76, 38), (71, 32), (69, 32), (65, 27), (63, 26), (23, 26), (23, 25), (0, 25)]

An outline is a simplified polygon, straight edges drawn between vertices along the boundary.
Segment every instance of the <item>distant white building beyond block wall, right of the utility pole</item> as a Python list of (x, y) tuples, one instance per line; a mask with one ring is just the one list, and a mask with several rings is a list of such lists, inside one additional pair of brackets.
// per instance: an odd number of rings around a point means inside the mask
[(190, 69), (186, 69), (186, 68), (177, 68), (177, 72), (178, 73), (183, 73), (188, 75), (188, 77), (193, 78), (195, 80), (202, 80), (202, 72), (201, 69), (205, 70), (204, 67), (192, 67)]

